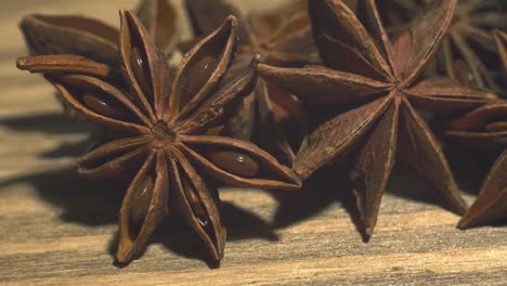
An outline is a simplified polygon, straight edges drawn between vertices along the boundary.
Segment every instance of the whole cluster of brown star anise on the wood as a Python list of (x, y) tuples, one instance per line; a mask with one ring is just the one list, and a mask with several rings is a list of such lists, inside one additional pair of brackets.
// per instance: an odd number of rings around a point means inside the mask
[[(232, 1), (186, 0), (195, 38), (179, 41), (178, 10), (143, 0), (120, 11), (119, 30), (81, 16), (25, 17), (32, 55), (17, 66), (43, 74), (67, 113), (104, 128), (77, 165), (130, 182), (120, 262), (173, 211), (220, 260), (219, 182), (295, 190), (344, 156), (366, 235), (395, 158), (468, 227), (507, 214), (500, 2), (294, 0), (244, 15)], [(176, 68), (168, 58), (178, 50)], [(498, 156), (470, 208), (441, 143)]]

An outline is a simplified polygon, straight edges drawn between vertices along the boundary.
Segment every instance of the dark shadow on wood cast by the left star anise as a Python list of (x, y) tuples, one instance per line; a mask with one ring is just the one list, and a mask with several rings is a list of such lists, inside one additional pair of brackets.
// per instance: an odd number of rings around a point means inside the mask
[[(122, 197), (127, 190), (127, 183), (88, 180), (77, 176), (70, 168), (65, 168), (1, 181), (0, 191), (17, 183), (32, 185), (42, 199), (61, 208), (63, 212), (60, 218), (63, 221), (88, 226), (117, 224)], [(227, 227), (227, 240), (260, 238), (276, 242), (278, 239), (269, 223), (231, 203), (223, 203), (222, 217)], [(164, 245), (180, 256), (203, 260), (210, 268), (217, 266), (209, 262), (205, 245), (177, 210), (158, 226), (153, 242)], [(116, 234), (108, 245), (108, 251), (113, 257), (117, 243)]]

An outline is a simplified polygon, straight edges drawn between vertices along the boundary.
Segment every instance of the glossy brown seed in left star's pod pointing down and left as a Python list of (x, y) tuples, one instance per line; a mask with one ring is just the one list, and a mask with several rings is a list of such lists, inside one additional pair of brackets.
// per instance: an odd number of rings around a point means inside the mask
[(150, 202), (152, 200), (152, 192), (154, 187), (153, 177), (148, 176), (133, 192), (130, 203), (129, 217), (134, 225), (142, 225), (146, 217)]

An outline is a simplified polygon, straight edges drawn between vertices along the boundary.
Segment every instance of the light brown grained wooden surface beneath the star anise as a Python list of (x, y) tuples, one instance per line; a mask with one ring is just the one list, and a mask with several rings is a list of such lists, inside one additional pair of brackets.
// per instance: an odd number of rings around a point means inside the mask
[(116, 9), (134, 2), (2, 1), (0, 285), (507, 285), (507, 227), (458, 231), (458, 217), (400, 168), (367, 244), (342, 183), (288, 194), (224, 188), (220, 268), (206, 263), (178, 218), (140, 260), (113, 265), (121, 188), (74, 174), (72, 156), (84, 150), (89, 127), (65, 119), (40, 77), (15, 69), (26, 53), (16, 25), (36, 11), (116, 25)]

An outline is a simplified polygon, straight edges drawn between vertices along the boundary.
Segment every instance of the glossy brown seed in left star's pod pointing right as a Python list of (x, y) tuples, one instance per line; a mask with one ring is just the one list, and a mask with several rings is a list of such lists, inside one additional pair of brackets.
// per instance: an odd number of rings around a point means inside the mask
[(253, 178), (259, 173), (259, 164), (251, 157), (233, 151), (211, 151), (208, 152), (209, 159), (227, 172)]

